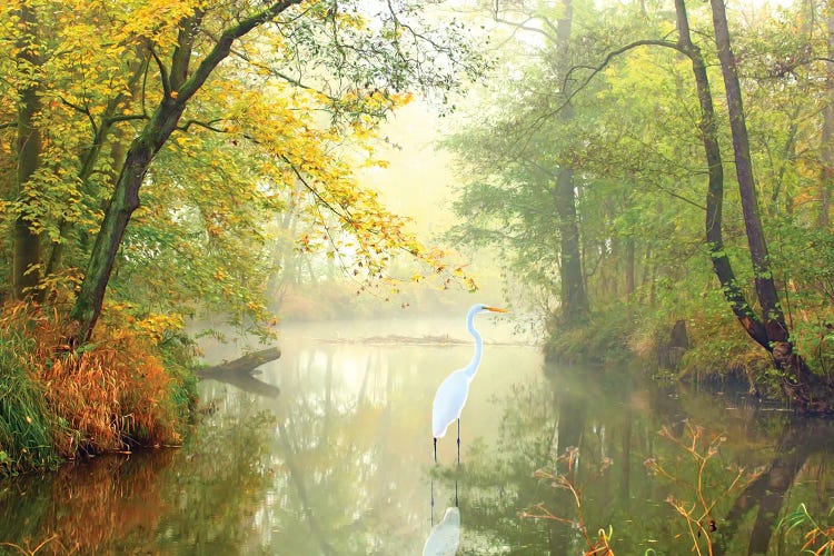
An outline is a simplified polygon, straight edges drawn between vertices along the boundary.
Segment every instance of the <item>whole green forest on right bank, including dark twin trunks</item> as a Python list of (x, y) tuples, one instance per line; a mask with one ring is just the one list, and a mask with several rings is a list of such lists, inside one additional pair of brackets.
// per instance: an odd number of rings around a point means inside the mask
[(833, 14), (668, 4), (493, 7), (516, 40), (445, 140), (451, 237), (507, 255), (554, 358), (831, 413)]

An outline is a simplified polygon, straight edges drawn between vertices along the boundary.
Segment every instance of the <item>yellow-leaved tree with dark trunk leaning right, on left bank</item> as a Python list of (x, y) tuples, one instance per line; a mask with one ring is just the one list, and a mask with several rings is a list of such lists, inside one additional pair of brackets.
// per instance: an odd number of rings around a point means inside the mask
[[(19, 103), (18, 120), (26, 123), (29, 110), (33, 129), (48, 130), (50, 140), (42, 147), (24, 143), (39, 158), (19, 157), (33, 160), (27, 172), (37, 179), (27, 178), (26, 183), (37, 196), (27, 197), (18, 187), (4, 206), (20, 216), (21, 237), (38, 235), (33, 244), (51, 247), (47, 257), (16, 244), (16, 260), (17, 254), (29, 254), (19, 267), (30, 271), (18, 272), (31, 277), (28, 287), (46, 291), (49, 284), (72, 275), (73, 267), (83, 269), (70, 311), (77, 342), (90, 338), (115, 269), (135, 260), (119, 255), (126, 238), (131, 238), (128, 225), (135, 215), (166, 226), (191, 222), (189, 231), (201, 227), (205, 234), (191, 240), (215, 247), (224, 224), (238, 224), (225, 222), (221, 211), (192, 196), (197, 190), (189, 185), (166, 182), (183, 177), (170, 171), (183, 157), (200, 160), (209, 176), (225, 173), (225, 183), (235, 187), (224, 191), (222, 202), (240, 196), (250, 216), (259, 203), (280, 210), (276, 191), (300, 185), (310, 219), (329, 238), (308, 240), (302, 247), (348, 248), (347, 237), (353, 237), (355, 245), (348, 249), (363, 267), (363, 277), (383, 277), (385, 252), (391, 249), (433, 260), (405, 231), (401, 219), (357, 186), (349, 165), (373, 160), (376, 122), (407, 102), (410, 90), (447, 91), (457, 86), (460, 72), (480, 71), (463, 26), (453, 22), (438, 30), (420, 17), (419, 6), (386, 2), (158, 0), (58, 6), (24, 0), (21, 6), (22, 16), (14, 17), (3, 8), (18, 42), (34, 41), (22, 31), (28, 26), (18, 24), (26, 13), (32, 20), (43, 16), (39, 23), (47, 32), (37, 41), (41, 69), (34, 71), (28, 62), (12, 72), (18, 89), (36, 87), (38, 93), (31, 98), (43, 103)], [(10, 51), (23, 57), (36, 49)], [(3, 92), (6, 108), (11, 91)], [(348, 143), (365, 147), (349, 155)], [(244, 145), (260, 160), (258, 171), (251, 171), (242, 157), (226, 157), (229, 166), (212, 160), (210, 148), (234, 151)], [(177, 155), (169, 156), (172, 151)], [(190, 178), (201, 179), (198, 173)], [(238, 175), (251, 181), (245, 183)], [(24, 183), (24, 177), (17, 182)], [(163, 189), (173, 197), (160, 196)], [(173, 210), (179, 212), (153, 206), (146, 208), (161, 218), (137, 212), (140, 190), (153, 190), (149, 200), (178, 199)], [(210, 199), (211, 191), (199, 196)], [(32, 207), (28, 199), (33, 199)], [(202, 218), (192, 219), (195, 211)], [(261, 230), (249, 230), (259, 244)], [(133, 235), (133, 257), (150, 259), (160, 252), (161, 237)], [(183, 238), (175, 239), (181, 245)], [(36, 270), (44, 268), (46, 281), (39, 281)]]

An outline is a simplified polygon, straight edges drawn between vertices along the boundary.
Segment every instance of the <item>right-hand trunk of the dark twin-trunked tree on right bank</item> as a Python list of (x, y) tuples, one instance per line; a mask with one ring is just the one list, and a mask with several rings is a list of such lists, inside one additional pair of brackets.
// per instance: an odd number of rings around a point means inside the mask
[[(724, 9), (724, 0), (709, 0), (713, 11), (713, 27), (715, 42), (718, 47), (718, 60), (724, 76), (724, 88), (729, 112), (729, 127), (733, 135), (733, 152), (735, 155), (736, 177), (744, 214), (744, 228), (747, 234), (751, 262), (756, 285), (756, 295), (762, 307), (762, 322), (765, 337), (758, 330), (753, 338), (771, 353), (778, 369), (785, 373), (782, 387), (785, 394), (803, 410), (832, 410), (831, 389), (815, 380), (805, 361), (794, 351), (790, 339), (785, 316), (780, 306), (776, 285), (767, 260), (767, 244), (758, 210), (755, 182), (753, 177), (753, 161), (749, 153), (747, 126), (745, 122), (742, 88), (738, 71), (729, 38), (729, 28)], [(749, 331), (749, 329), (748, 329)], [(814, 391), (823, 388), (824, 391)], [(815, 398), (815, 396), (820, 398)]]

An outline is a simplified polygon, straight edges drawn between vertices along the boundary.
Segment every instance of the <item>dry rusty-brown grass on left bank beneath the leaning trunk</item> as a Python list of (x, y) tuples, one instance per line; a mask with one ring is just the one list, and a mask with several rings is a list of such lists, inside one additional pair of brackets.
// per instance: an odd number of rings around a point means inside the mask
[(171, 379), (150, 336), (102, 320), (92, 341), (77, 350), (67, 345), (69, 326), (56, 309), (7, 304), (0, 334), (33, 339), (24, 364), (43, 384), (60, 426), (56, 447), (64, 457), (80, 450), (100, 453), (133, 445), (179, 441), (170, 400)]

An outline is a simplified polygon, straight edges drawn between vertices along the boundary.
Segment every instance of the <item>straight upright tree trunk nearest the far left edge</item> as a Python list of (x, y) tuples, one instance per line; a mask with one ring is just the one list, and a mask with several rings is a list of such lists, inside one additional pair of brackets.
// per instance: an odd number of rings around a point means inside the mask
[[(38, 20), (28, 0), (21, 0), (19, 17), (22, 32), (17, 43), (18, 63), (23, 68), (23, 75), (29, 77), (23, 78), (23, 85), (18, 89), (17, 196), (26, 207), (29, 197), (24, 190), (40, 166), (41, 155), (41, 135), (34, 121), (40, 111), (40, 98), (37, 73), (33, 71), (40, 66), (40, 54)], [(26, 208), (14, 219), (13, 237), (12, 295), (16, 299), (23, 299), (34, 295), (33, 288), (40, 284), (40, 234), (33, 231)]]

